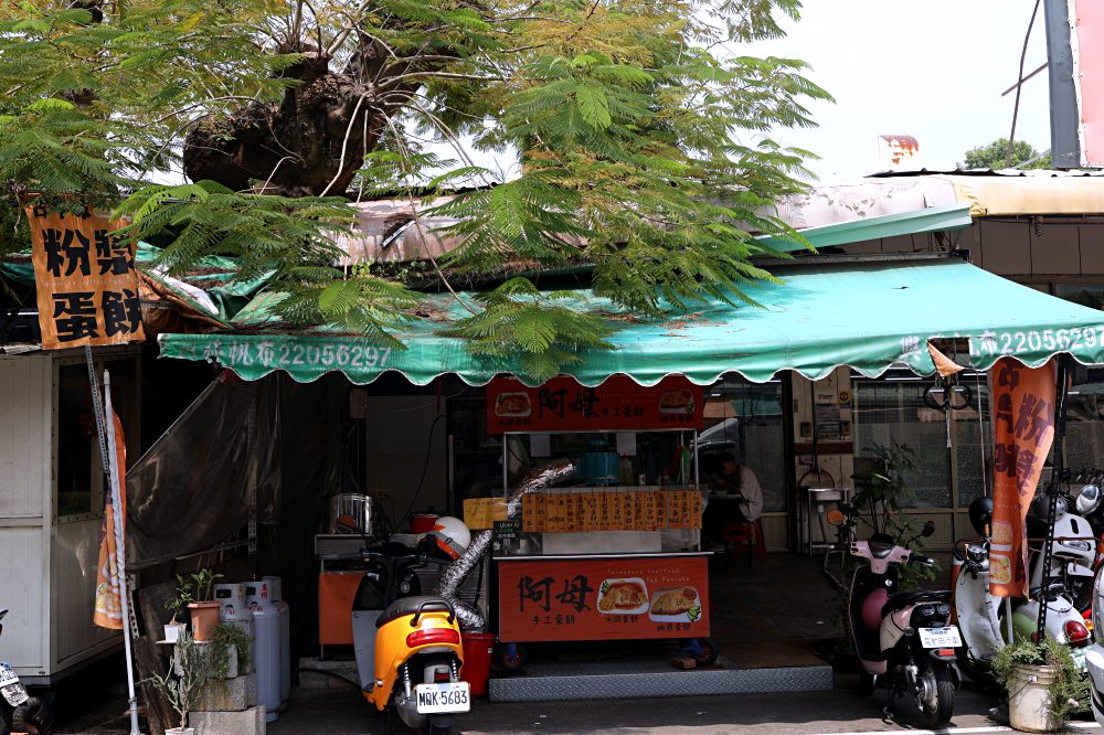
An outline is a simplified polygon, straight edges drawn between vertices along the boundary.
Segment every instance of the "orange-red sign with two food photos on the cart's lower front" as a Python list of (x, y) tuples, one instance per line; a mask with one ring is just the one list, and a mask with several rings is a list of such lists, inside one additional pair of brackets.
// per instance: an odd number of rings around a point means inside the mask
[(499, 639), (709, 636), (704, 556), (498, 563)]

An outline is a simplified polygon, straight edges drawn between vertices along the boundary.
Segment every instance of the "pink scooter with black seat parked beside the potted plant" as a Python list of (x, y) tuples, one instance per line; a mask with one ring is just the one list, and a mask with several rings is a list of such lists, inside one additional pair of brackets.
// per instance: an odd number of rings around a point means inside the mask
[[(928, 524), (922, 535), (934, 532), (934, 524)], [(948, 622), (951, 593), (898, 593), (902, 564), (933, 562), (899, 546), (888, 534), (852, 541), (850, 552), (868, 562), (854, 572), (848, 603), (863, 693), (873, 692), (884, 680), (890, 704), (909, 694), (915, 697), (925, 727), (946, 725), (955, 710), (957, 673), (952, 664), (962, 646), (958, 628)]]

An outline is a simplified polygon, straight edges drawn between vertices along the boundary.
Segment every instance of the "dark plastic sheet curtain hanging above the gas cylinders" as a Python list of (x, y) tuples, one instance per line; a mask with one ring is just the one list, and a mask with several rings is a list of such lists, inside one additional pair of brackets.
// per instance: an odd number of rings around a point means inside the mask
[(332, 381), (224, 372), (127, 472), (130, 566), (237, 537), (254, 498), (261, 523), (280, 520), (288, 488), (300, 509), (322, 502), (339, 477), (343, 415)]

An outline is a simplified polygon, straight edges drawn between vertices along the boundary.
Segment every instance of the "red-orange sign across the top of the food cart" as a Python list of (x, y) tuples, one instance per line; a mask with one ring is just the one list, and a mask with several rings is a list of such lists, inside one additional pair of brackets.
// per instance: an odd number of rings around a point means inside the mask
[(538, 387), (499, 377), (487, 386), (488, 434), (701, 429), (703, 416), (701, 386), (681, 375), (650, 387), (626, 375), (613, 375), (596, 387), (569, 376)]

